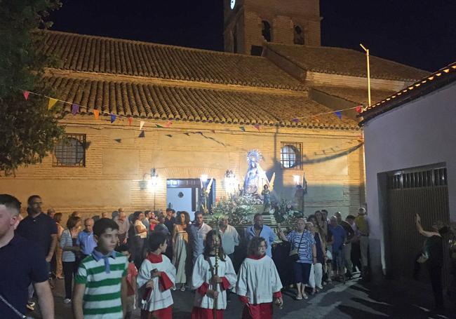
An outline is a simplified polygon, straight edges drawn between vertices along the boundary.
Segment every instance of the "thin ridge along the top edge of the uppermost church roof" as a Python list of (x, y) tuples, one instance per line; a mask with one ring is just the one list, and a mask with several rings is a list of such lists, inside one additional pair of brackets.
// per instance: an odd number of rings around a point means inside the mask
[(187, 46), (175, 46), (173, 44), (163, 44), (163, 43), (140, 41), (140, 40), (113, 38), (112, 36), (97, 36), (97, 35), (93, 35), (93, 34), (79, 34), (79, 33), (74, 33), (74, 32), (65, 32), (65, 31), (49, 30), (49, 29), (39, 29), (39, 30), (37, 30), (37, 32), (53, 33), (53, 34), (66, 34), (66, 35), (71, 35), (71, 36), (85, 37), (85, 38), (89, 38), (89, 39), (101, 39), (101, 40), (109, 40), (109, 41), (119, 41), (119, 42), (125, 42), (125, 43), (142, 44), (142, 45), (147, 45), (147, 46), (159, 46), (159, 47), (164, 47), (164, 48), (174, 48), (174, 49), (177, 49), (177, 50), (189, 50), (189, 51), (196, 51), (196, 52), (203, 52), (203, 53), (214, 53), (214, 54), (219, 54), (219, 55), (232, 55), (232, 56), (236, 56), (236, 57), (251, 57), (251, 58), (255, 58), (255, 59), (265, 59), (265, 57), (256, 56), (256, 55), (241, 55), (239, 53), (230, 53), (230, 52), (224, 52), (224, 51), (207, 50), (207, 49), (201, 49), (201, 48), (191, 48), (191, 47), (187, 47)]

